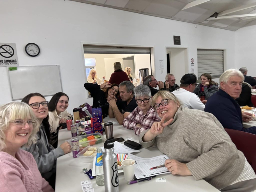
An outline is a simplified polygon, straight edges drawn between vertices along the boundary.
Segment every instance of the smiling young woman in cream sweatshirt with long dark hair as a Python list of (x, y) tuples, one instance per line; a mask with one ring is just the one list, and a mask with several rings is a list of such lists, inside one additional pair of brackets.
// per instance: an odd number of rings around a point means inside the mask
[(57, 148), (60, 124), (66, 123), (67, 119), (73, 120), (73, 115), (66, 110), (68, 108), (68, 100), (67, 94), (59, 92), (52, 96), (48, 105), (51, 145), (54, 148)]

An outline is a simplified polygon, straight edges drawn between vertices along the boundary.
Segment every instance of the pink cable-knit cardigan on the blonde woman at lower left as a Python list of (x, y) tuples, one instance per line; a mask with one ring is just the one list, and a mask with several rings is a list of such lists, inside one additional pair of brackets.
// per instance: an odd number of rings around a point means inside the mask
[(42, 178), (31, 153), (19, 149), (16, 152), (16, 158), (0, 151), (0, 191), (54, 191), (49, 183)]

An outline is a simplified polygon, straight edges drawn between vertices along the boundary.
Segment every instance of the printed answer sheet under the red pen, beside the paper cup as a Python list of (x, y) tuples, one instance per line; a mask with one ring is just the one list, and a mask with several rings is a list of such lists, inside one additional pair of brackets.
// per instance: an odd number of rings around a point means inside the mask
[(134, 170), (134, 174), (137, 179), (169, 173), (166, 167), (150, 169), (152, 167), (163, 165), (165, 160), (169, 159), (167, 155), (159, 155), (152, 158), (143, 158), (143, 157), (138, 157), (132, 154), (128, 154), (128, 155), (130, 159), (133, 159), (136, 162), (135, 164), (136, 168)]

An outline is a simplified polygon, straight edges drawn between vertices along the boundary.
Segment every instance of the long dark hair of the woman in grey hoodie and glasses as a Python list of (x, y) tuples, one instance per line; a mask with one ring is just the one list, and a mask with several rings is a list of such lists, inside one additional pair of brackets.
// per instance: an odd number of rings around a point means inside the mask
[[(39, 96), (45, 99), (45, 97), (43, 95), (41, 95), (40, 93), (30, 93), (27, 96), (25, 96), (21, 102), (27, 103), (29, 104), (29, 100), (31, 97), (35, 97), (35, 96)], [(51, 143), (51, 129), (50, 129), (50, 124), (49, 124), (49, 114), (47, 115), (46, 118), (43, 119), (42, 124), (45, 128), (45, 133), (47, 136), (47, 140), (49, 143)], [(39, 131), (39, 137), (41, 138), (41, 132)], [(39, 138), (39, 139), (40, 139)]]

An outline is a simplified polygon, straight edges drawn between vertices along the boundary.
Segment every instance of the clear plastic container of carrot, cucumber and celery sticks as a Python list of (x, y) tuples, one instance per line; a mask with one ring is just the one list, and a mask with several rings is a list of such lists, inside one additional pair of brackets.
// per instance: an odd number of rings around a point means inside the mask
[(79, 140), (80, 151), (89, 145), (93, 146), (99, 143), (103, 143), (106, 139), (103, 137), (101, 133), (91, 133), (86, 135), (79, 135), (76, 137), (72, 137), (72, 139), (77, 138)]

